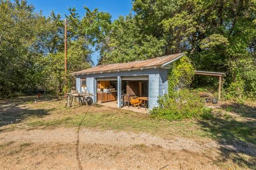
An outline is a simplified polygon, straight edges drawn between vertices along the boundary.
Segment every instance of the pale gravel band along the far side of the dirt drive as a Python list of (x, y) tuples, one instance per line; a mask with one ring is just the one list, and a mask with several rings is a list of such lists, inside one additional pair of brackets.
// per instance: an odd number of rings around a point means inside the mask
[[(31, 142), (31, 143), (61, 143), (75, 144), (77, 134), (75, 128), (58, 128), (52, 130), (17, 130), (12, 132), (0, 133), (0, 141), (15, 141), (15, 142)], [(146, 146), (157, 145), (164, 149), (189, 151), (202, 151), (205, 148), (217, 147), (215, 142), (196, 143), (182, 138), (173, 140), (164, 140), (163, 138), (154, 137), (147, 133), (127, 133), (108, 131), (95, 131), (81, 129), (79, 134), (79, 143), (87, 145), (112, 145), (112, 146), (133, 146), (140, 143)]]

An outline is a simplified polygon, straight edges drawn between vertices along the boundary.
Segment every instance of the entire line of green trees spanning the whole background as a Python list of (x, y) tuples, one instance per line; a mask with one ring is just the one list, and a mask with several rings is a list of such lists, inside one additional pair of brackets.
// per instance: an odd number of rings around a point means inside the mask
[[(185, 52), (197, 70), (226, 73), (230, 97), (256, 95), (255, 0), (133, 0), (133, 13), (75, 8), (37, 13), (26, 1), (0, 0), (0, 95), (31, 88), (63, 91), (63, 18), (68, 19), (68, 73), (99, 63), (146, 60)], [(69, 87), (73, 79), (68, 77)], [(194, 86), (202, 84), (195, 81)], [(207, 81), (208, 84), (212, 82)]]

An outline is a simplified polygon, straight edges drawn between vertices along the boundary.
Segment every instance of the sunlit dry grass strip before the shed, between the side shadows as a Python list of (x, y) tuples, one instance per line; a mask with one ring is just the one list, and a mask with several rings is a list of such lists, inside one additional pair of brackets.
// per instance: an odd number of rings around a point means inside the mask
[[(58, 118), (56, 118), (55, 114), (58, 114)], [(204, 140), (204, 137), (207, 136), (207, 132), (201, 129), (196, 120), (170, 122), (152, 119), (148, 115), (140, 113), (93, 106), (89, 108), (82, 106), (76, 108), (70, 114), (59, 114), (52, 112), (51, 116), (55, 117), (54, 119), (50, 118), (50, 116), (45, 118), (29, 118), (26, 120), (26, 125), (33, 128), (38, 126), (41, 128), (82, 126), (84, 128), (100, 130), (146, 132), (164, 138), (175, 136)]]

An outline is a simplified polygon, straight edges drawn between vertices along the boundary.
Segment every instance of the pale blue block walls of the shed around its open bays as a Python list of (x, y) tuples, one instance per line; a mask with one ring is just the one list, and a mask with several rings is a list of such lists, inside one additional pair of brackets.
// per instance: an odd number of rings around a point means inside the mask
[[(83, 74), (76, 76), (76, 88), (81, 91), (81, 78), (86, 78), (86, 87), (87, 92), (91, 94), (97, 94), (97, 81), (95, 78), (100, 77), (123, 77), (131, 75), (148, 75), (149, 77), (149, 109), (152, 109), (157, 104), (157, 97), (163, 96), (164, 93), (167, 94), (167, 69), (143, 69), (143, 70), (131, 70), (131, 71), (119, 71), (119, 72), (110, 72), (110, 73), (96, 73), (96, 74)], [(79, 83), (78, 83), (79, 82)], [(93, 101), (96, 102), (96, 96), (93, 98)]]

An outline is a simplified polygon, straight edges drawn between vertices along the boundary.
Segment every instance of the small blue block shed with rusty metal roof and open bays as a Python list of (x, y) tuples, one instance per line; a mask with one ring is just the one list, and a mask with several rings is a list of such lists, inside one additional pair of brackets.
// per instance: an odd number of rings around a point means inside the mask
[(76, 90), (94, 94), (94, 103), (116, 100), (120, 108), (125, 95), (145, 96), (150, 110), (158, 105), (157, 97), (167, 93), (169, 69), (183, 55), (179, 53), (145, 61), (99, 65), (72, 74), (76, 77)]

